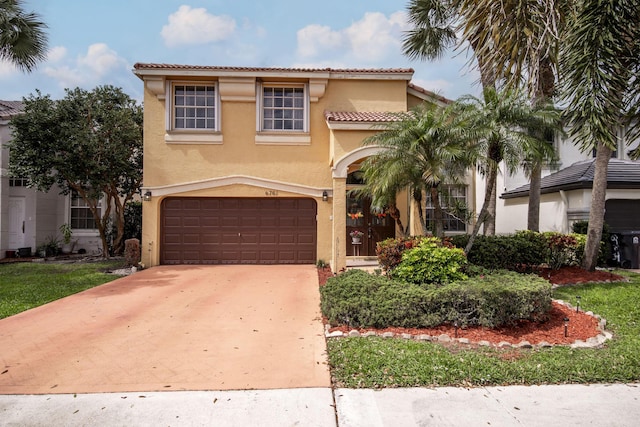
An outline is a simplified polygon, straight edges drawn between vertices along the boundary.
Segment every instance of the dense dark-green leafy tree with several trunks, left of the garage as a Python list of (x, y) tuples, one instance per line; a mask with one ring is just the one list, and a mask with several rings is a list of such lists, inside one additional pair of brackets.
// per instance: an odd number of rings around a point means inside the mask
[(63, 194), (76, 191), (93, 214), (105, 256), (113, 217), (113, 253), (121, 253), (124, 207), (142, 183), (142, 107), (113, 86), (67, 89), (57, 101), (37, 92), (23, 103), (24, 114), (11, 121), (10, 172), (41, 191), (54, 184)]

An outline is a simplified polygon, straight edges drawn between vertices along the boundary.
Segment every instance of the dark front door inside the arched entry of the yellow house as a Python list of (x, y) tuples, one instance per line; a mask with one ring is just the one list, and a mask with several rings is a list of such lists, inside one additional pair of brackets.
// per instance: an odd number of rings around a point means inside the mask
[(389, 237), (395, 237), (393, 218), (371, 212), (369, 198), (347, 196), (347, 256), (375, 256), (376, 243)]

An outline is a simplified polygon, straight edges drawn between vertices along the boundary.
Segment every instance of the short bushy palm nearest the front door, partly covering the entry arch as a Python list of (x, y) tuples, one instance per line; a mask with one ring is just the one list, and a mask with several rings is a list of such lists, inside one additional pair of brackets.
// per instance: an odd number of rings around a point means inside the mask
[[(395, 206), (396, 194), (410, 187), (420, 201), (423, 191), (434, 206), (434, 235), (444, 237), (440, 188), (465, 176), (473, 159), (467, 145), (469, 128), (453, 107), (420, 105), (398, 113), (386, 129), (365, 140), (383, 150), (362, 164), (365, 187), (373, 206)], [(419, 206), (421, 206), (419, 204)], [(420, 209), (420, 222), (426, 222)]]

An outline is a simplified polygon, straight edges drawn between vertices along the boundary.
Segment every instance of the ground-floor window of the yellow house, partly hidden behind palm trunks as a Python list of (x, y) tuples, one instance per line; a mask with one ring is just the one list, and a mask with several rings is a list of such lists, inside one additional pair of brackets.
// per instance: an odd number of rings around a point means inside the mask
[[(466, 185), (445, 185), (440, 188), (440, 205), (442, 206), (443, 228), (448, 232), (466, 232), (464, 210), (467, 206)], [(431, 197), (425, 198), (425, 221), (427, 229), (435, 229), (435, 209)]]

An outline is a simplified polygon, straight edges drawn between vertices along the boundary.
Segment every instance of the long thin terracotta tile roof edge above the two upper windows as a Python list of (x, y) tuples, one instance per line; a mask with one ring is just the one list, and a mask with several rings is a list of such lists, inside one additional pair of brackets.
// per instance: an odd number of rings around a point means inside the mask
[(331, 73), (407, 73), (413, 74), (413, 68), (286, 68), (286, 67), (229, 67), (217, 65), (180, 65), (180, 64), (134, 64), (135, 70), (203, 70), (203, 71), (227, 71), (227, 72), (289, 72), (289, 73), (309, 73), (309, 72), (331, 72)]

